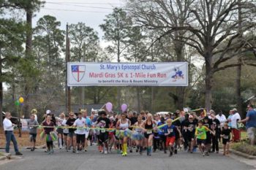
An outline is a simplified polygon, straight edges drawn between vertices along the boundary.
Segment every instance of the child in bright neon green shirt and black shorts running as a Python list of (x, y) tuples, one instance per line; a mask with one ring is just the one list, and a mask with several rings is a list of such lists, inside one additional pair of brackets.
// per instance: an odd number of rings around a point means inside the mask
[(195, 136), (197, 137), (197, 145), (202, 153), (202, 155), (205, 155), (205, 144), (206, 144), (206, 132), (210, 131), (211, 134), (215, 135), (213, 131), (211, 131), (209, 128), (203, 125), (203, 121), (198, 121), (198, 126), (195, 129)]

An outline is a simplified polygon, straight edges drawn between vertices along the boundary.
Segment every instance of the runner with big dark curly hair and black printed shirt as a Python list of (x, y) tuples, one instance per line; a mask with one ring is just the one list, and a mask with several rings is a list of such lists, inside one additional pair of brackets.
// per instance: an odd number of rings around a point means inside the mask
[(110, 120), (107, 117), (107, 113), (105, 110), (99, 112), (99, 119), (97, 120), (97, 125), (99, 125), (99, 144), (103, 147), (103, 152), (105, 154), (108, 154), (108, 131), (106, 131), (106, 128), (109, 128), (110, 126)]

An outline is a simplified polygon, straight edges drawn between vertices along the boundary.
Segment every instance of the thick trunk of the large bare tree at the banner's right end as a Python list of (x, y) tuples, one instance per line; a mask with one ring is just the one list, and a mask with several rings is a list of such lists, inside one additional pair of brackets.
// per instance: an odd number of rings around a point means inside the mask
[(212, 58), (211, 55), (206, 53), (206, 94), (205, 94), (205, 107), (207, 110), (211, 109), (212, 106), (212, 82), (213, 82), (213, 70), (211, 67)]

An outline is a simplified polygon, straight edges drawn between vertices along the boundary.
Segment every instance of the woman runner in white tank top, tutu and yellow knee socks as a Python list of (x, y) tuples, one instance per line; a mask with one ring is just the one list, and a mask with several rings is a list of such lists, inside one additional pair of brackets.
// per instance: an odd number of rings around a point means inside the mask
[(121, 119), (118, 120), (116, 123), (116, 136), (118, 136), (118, 139), (121, 139), (122, 143), (122, 156), (127, 156), (127, 142), (128, 137), (131, 136), (131, 132), (129, 130), (129, 126), (131, 125), (131, 122), (129, 119), (126, 118), (125, 114), (121, 114)]

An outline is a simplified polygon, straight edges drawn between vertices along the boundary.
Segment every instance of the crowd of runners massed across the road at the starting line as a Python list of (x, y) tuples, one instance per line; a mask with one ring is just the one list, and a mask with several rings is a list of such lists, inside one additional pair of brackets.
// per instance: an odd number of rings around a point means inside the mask
[[(253, 110), (253, 109), (252, 109)], [(254, 111), (255, 112), (255, 111)], [(256, 115), (256, 112), (255, 112)], [(244, 120), (246, 121), (246, 120)], [(78, 113), (61, 113), (59, 117), (48, 110), (41, 125), (37, 123), (36, 111), (32, 110), (28, 122), (31, 151), (34, 151), (37, 128), (41, 127), (41, 139), (45, 139), (48, 154), (53, 154), (53, 145), (65, 152), (88, 152), (88, 147), (97, 144), (99, 152), (117, 152), (127, 156), (128, 152), (151, 155), (163, 152), (169, 156), (180, 150), (200, 152), (203, 156), (210, 152), (219, 153), (219, 142), (223, 144), (223, 155), (229, 154), (229, 144), (240, 140), (238, 123), (243, 122), (236, 109), (225, 117), (221, 111), (201, 109), (200, 113), (177, 110), (165, 115), (149, 112), (123, 112), (121, 115), (105, 112), (91, 112), (86, 109)], [(17, 147), (17, 143), (15, 144)], [(7, 148), (9, 152), (9, 148)], [(18, 147), (16, 150), (18, 152)]]

